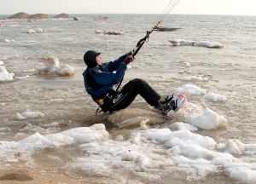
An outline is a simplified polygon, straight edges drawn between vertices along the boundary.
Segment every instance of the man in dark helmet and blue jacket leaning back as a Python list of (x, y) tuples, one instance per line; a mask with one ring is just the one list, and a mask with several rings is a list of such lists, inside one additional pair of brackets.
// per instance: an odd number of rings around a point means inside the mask
[(151, 88), (144, 80), (135, 78), (118, 92), (113, 86), (118, 84), (125, 75), (127, 65), (132, 62), (131, 53), (120, 56), (117, 60), (102, 63), (101, 53), (89, 50), (84, 54), (87, 66), (83, 73), (84, 86), (92, 99), (102, 108), (103, 112), (114, 112), (129, 106), (137, 95), (141, 95), (150, 106), (154, 106), (165, 114), (175, 112), (177, 99), (168, 95), (165, 99)]

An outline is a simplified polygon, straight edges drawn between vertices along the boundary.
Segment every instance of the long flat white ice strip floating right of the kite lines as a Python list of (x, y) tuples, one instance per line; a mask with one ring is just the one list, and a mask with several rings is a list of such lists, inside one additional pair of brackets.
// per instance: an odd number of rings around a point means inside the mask
[(175, 39), (170, 40), (173, 46), (198, 46), (198, 47), (207, 47), (207, 48), (223, 48), (224, 46), (218, 42), (210, 41), (193, 41), (193, 40), (184, 40), (184, 39)]

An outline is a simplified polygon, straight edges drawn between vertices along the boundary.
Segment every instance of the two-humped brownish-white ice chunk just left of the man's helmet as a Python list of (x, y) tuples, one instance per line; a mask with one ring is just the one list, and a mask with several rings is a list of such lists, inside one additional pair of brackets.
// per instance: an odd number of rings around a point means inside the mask
[(59, 76), (73, 76), (75, 71), (73, 66), (64, 65), (59, 66), (60, 61), (56, 56), (42, 58), (45, 67), (38, 69), (40, 75), (59, 75)]

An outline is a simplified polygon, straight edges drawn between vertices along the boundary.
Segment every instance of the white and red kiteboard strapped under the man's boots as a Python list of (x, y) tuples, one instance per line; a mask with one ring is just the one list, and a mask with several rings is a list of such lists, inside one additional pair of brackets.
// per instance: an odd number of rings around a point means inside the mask
[[(166, 98), (172, 98), (172, 107), (171, 110), (165, 112), (166, 119), (172, 119), (172, 116), (177, 112), (178, 109), (180, 109), (184, 103), (187, 101), (187, 96), (183, 95), (181, 93), (174, 93), (172, 95), (168, 95)], [(169, 100), (169, 99), (166, 99)], [(171, 103), (171, 101), (170, 101)]]

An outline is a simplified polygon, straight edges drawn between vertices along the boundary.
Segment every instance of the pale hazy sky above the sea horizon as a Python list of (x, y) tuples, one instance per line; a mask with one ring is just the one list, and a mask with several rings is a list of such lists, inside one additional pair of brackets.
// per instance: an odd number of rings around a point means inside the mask
[[(171, 0), (0, 0), (0, 14), (161, 14)], [(181, 0), (171, 14), (256, 15), (256, 0)]]

